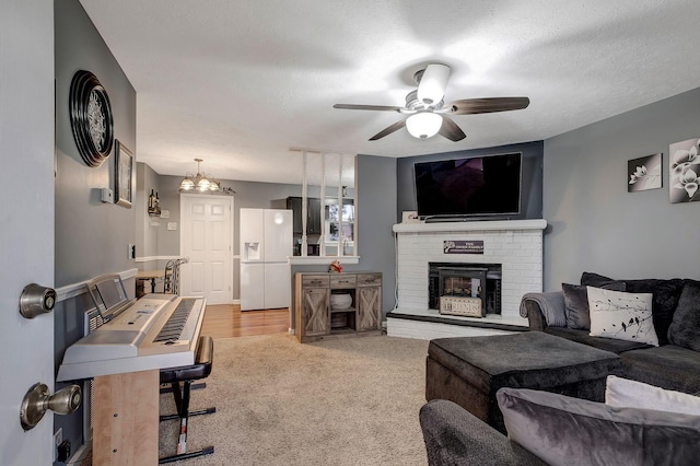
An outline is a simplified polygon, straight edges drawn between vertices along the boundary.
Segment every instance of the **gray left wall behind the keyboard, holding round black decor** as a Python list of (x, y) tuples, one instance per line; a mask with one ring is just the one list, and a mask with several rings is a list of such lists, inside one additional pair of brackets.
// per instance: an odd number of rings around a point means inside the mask
[[(56, 211), (55, 283), (63, 287), (135, 267), (127, 255), (136, 241), (133, 208), (103, 203), (101, 188), (114, 189), (114, 155), (102, 166), (85, 165), (73, 140), (68, 113), (71, 79), (78, 70), (92, 71), (107, 91), (114, 114), (115, 137), (138, 158), (136, 92), (102, 40), (78, 0), (56, 0)], [(136, 184), (133, 185), (136, 186)], [(138, 202), (138, 199), (136, 199)], [(133, 294), (133, 281), (126, 283)], [(83, 313), (92, 307), (84, 295), (59, 303), (54, 311), (55, 356), (60, 362), (68, 346), (82, 336)], [(59, 389), (65, 384), (56, 384)], [(74, 448), (82, 444), (82, 408), (54, 417), (55, 430)], [(73, 450), (74, 451), (74, 450)]]

